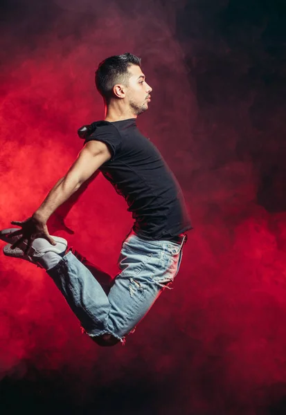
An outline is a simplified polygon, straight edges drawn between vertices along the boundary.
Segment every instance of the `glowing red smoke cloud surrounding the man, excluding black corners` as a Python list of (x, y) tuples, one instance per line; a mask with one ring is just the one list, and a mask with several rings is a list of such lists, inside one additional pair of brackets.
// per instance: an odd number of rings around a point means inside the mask
[[(153, 89), (138, 127), (179, 179), (195, 228), (174, 290), (163, 293), (125, 347), (107, 351), (82, 335), (43, 270), (0, 255), (1, 376), (28, 378), (29, 365), (55, 371), (82, 405), (96, 388), (117, 390), (123, 383), (125, 399), (132, 384), (146, 390), (147, 401), (153, 396), (145, 413), (264, 414), (286, 393), (286, 213), (258, 205), (258, 167), (250, 157), (235, 157), (239, 127), (231, 127), (231, 105), (224, 116), (211, 104), (199, 108), (172, 12), (148, 4), (152, 13), (136, 17), (119, 6), (107, 15), (93, 10), (94, 21), (78, 28), (73, 1), (70, 14), (30, 48), (17, 48), (12, 35), (6, 39), (17, 53), (3, 66), (0, 85), (0, 228), (32, 214), (69, 169), (82, 147), (78, 127), (103, 117), (96, 66), (130, 51), (143, 58)], [(62, 26), (66, 33), (59, 35)], [(250, 122), (245, 128), (254, 136)], [(116, 275), (132, 218), (101, 175), (66, 225), (75, 233), (57, 234)]]

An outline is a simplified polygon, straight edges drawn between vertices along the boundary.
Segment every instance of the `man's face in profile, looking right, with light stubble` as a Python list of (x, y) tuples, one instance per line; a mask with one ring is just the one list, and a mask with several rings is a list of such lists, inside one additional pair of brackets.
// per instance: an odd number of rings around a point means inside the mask
[(152, 88), (145, 81), (145, 75), (139, 66), (129, 66), (128, 71), (131, 76), (129, 77), (124, 99), (134, 115), (138, 116), (148, 109)]

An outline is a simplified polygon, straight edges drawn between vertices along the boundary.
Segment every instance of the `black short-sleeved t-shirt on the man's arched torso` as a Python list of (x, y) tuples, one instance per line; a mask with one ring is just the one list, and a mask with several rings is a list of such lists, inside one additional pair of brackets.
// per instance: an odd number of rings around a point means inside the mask
[(181, 187), (136, 119), (91, 124), (84, 138), (105, 142), (111, 159), (99, 170), (127, 201), (133, 230), (145, 239), (171, 239), (192, 229)]

